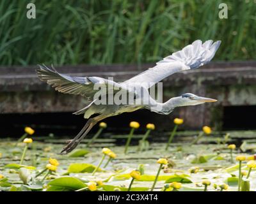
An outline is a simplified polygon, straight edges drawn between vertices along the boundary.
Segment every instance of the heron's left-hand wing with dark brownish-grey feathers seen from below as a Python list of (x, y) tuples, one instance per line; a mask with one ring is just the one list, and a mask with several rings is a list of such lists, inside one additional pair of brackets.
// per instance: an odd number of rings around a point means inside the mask
[[(52, 85), (56, 91), (63, 92), (65, 94), (79, 94), (86, 98), (92, 98), (99, 89), (94, 89), (95, 85), (102, 85), (100, 88), (108, 89), (109, 86), (118, 89), (120, 84), (100, 77), (71, 77), (58, 73), (54, 68), (47, 68), (47, 66), (40, 66), (40, 69), (36, 69), (40, 80)], [(91, 99), (91, 100), (92, 100)]]

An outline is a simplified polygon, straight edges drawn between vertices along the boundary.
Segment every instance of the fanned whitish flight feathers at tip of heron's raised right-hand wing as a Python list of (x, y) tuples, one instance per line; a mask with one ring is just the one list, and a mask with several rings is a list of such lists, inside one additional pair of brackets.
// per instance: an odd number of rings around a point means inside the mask
[(186, 64), (186, 66), (189, 66), (191, 69), (196, 69), (211, 61), (220, 47), (220, 43), (221, 41), (213, 43), (212, 40), (207, 40), (202, 44), (201, 40), (196, 40), (182, 50), (165, 57), (162, 61), (157, 62), (157, 64), (179, 61)]

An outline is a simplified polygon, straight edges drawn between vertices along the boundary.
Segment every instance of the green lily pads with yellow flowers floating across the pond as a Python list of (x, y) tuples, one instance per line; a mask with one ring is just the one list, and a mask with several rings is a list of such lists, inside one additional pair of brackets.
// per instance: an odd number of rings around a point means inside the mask
[[(126, 139), (131, 142), (133, 136), (138, 143), (141, 138), (146, 141), (155, 129), (154, 124), (147, 124), (145, 135), (138, 137), (133, 133), (140, 124), (131, 122), (130, 127)], [(100, 125), (104, 128), (107, 125)], [(90, 149), (88, 143), (82, 143), (80, 149), (67, 155), (59, 154), (64, 142), (61, 138), (29, 134), (33, 138), (23, 138), (19, 143), (2, 140), (0, 191), (255, 191), (255, 149), (241, 152), (241, 147), (233, 143), (218, 143), (220, 133), (209, 127), (197, 135), (201, 133), (211, 136), (202, 136), (193, 145), (193, 137), (187, 142), (172, 142), (168, 150), (166, 143), (152, 143), (148, 149), (128, 143), (129, 152), (111, 143), (115, 140), (94, 138)], [(211, 139), (211, 143), (203, 139)]]

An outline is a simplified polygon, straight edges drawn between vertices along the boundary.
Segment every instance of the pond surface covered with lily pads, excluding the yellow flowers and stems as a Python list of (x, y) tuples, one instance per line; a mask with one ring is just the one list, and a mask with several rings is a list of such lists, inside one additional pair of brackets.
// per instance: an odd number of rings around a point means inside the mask
[[(58, 180), (71, 178), (78, 179), (79, 182), (85, 184), (84, 190), (88, 190), (86, 189), (88, 184), (101, 180), (103, 184), (97, 186), (99, 191), (113, 191), (114, 189), (125, 191), (131, 183), (129, 173), (134, 169), (140, 169), (141, 178), (134, 180), (132, 191), (149, 191), (159, 169), (157, 159), (166, 158), (169, 163), (164, 165), (160, 171), (154, 191), (163, 191), (164, 184), (172, 182), (182, 183), (179, 191), (204, 191), (202, 185), (204, 179), (211, 182), (207, 191), (220, 191), (220, 187), (216, 189), (215, 184), (218, 186), (223, 183), (228, 184), (227, 191), (237, 191), (239, 167), (236, 156), (245, 155), (246, 158), (252, 158), (249, 156), (255, 154), (255, 132), (230, 131), (230, 137), (226, 142), (223, 138), (225, 133), (215, 133), (211, 136), (204, 136), (199, 144), (191, 145), (191, 140), (197, 134), (196, 132), (179, 132), (168, 150), (165, 150), (164, 137), (159, 138), (158, 142), (155, 141), (157, 139), (150, 139), (150, 146), (143, 151), (138, 151), (137, 145), (142, 135), (134, 135), (128, 153), (124, 154), (123, 142), (127, 135), (106, 133), (96, 140), (91, 147), (86, 147), (88, 140), (84, 140), (76, 150), (67, 155), (59, 154), (65, 145), (65, 138), (32, 136), (33, 143), (28, 145), (24, 166), (20, 166), (19, 163), (25, 144), (19, 143), (15, 146), (17, 140), (2, 138), (0, 141), (0, 173), (4, 178), (0, 180), (0, 189), (2, 191), (75, 191), (83, 189), (82, 184), (77, 184), (78, 186), (74, 184), (76, 180), (71, 180), (68, 184), (65, 180), (64, 183), (66, 182), (66, 184), (63, 184), (63, 180), (62, 183), (61, 180)], [(166, 135), (168, 134), (166, 133)], [(233, 154), (234, 163), (230, 161), (228, 143), (237, 144)], [(239, 146), (241, 147), (238, 148)], [(100, 166), (100, 171), (92, 175), (95, 166), (102, 159), (101, 150), (103, 147), (111, 149), (117, 157), (106, 168), (102, 168), (108, 161), (107, 156)], [(50, 157), (58, 159), (60, 163), (56, 172), (47, 175), (43, 181), (46, 171), (35, 178), (36, 173), (44, 170)], [(247, 162), (242, 162), (242, 170), (248, 173)], [(191, 168), (195, 167), (198, 167), (199, 171), (191, 173)], [(23, 174), (20, 173), (21, 170)], [(25, 179), (21, 179), (24, 177)], [(245, 177), (243, 177), (244, 180), (246, 180)], [(255, 191), (256, 171), (254, 169), (252, 169), (248, 180), (250, 181), (250, 191)], [(56, 187), (55, 185), (63, 186)], [(167, 191), (169, 190), (172, 188), (167, 189)]]

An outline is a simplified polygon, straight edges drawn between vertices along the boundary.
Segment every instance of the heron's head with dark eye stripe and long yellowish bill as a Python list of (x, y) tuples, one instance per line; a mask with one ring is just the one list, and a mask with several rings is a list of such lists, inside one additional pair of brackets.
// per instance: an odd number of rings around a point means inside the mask
[(195, 94), (190, 94), (190, 93), (182, 94), (179, 100), (180, 100), (180, 103), (182, 104), (181, 106), (195, 106), (202, 103), (211, 103), (211, 102), (217, 101), (216, 99), (196, 96)]

